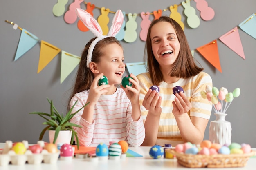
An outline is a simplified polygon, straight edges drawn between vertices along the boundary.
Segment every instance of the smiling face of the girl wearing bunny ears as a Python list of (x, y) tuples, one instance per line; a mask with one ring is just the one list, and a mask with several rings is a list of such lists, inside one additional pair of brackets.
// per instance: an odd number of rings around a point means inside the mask
[(109, 84), (119, 84), (125, 71), (124, 51), (117, 43), (111, 43), (103, 47), (103, 55), (97, 64), (99, 73), (108, 78)]

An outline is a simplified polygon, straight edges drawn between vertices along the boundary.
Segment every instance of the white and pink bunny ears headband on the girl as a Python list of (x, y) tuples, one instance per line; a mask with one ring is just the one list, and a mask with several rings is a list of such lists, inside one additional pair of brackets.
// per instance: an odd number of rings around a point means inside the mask
[(102, 35), (102, 29), (99, 25), (99, 23), (92, 17), (90, 13), (87, 11), (76, 8), (76, 14), (80, 18), (80, 20), (87, 26), (90, 31), (97, 37), (95, 40), (93, 40), (92, 44), (90, 45), (88, 49), (88, 54), (87, 54), (87, 61), (86, 61), (86, 66), (89, 68), (90, 62), (92, 62), (92, 52), (95, 47), (95, 45), (102, 39), (106, 37), (115, 37), (117, 33), (120, 31), (121, 26), (123, 24), (124, 16), (121, 10), (117, 10), (115, 13), (115, 16), (112, 21), (112, 25), (110, 27), (110, 30), (108, 31), (107, 35)]

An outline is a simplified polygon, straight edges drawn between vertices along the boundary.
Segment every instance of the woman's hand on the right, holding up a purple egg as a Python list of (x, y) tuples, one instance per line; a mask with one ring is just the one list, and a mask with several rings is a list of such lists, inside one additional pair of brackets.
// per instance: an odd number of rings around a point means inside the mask
[(173, 101), (173, 115), (182, 115), (183, 113), (188, 113), (192, 108), (189, 99), (185, 96), (183, 92), (176, 93), (176, 98)]

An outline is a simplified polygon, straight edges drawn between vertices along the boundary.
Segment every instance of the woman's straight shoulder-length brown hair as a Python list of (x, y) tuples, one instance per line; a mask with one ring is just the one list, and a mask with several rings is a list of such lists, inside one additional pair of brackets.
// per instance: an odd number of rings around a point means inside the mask
[(152, 51), (152, 42), (150, 38), (151, 29), (158, 22), (170, 23), (173, 26), (177, 34), (177, 38), (180, 42), (179, 55), (177, 56), (177, 59), (173, 63), (173, 67), (170, 68), (170, 76), (180, 77), (180, 78), (189, 78), (191, 76), (195, 76), (198, 73), (200, 73), (204, 68), (200, 68), (195, 64), (195, 60), (191, 54), (189, 44), (186, 40), (185, 33), (182, 30), (181, 26), (172, 18), (167, 16), (162, 16), (159, 19), (154, 20), (150, 24), (148, 28), (148, 35), (147, 35), (146, 44), (145, 44), (144, 62), (147, 62), (147, 71), (150, 74), (152, 83), (155, 85), (159, 85), (160, 82), (164, 81), (159, 63), (155, 59)]

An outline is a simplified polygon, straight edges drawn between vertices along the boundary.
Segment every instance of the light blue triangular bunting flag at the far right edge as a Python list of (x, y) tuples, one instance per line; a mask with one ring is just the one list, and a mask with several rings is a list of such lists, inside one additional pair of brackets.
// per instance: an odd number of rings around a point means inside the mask
[(251, 16), (241, 22), (239, 27), (245, 31), (245, 33), (256, 39), (256, 13), (253, 13)]

